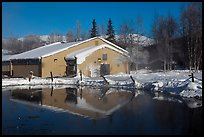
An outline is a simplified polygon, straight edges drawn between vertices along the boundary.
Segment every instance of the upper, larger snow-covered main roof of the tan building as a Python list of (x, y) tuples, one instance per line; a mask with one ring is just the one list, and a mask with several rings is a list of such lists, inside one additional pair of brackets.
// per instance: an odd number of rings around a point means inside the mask
[(121, 47), (103, 39), (100, 37), (94, 37), (94, 38), (90, 38), (84, 41), (80, 41), (80, 42), (69, 42), (69, 43), (61, 43), (61, 42), (56, 42), (56, 43), (52, 43), (46, 46), (42, 46), (30, 51), (26, 51), (17, 55), (12, 56), (10, 59), (34, 59), (34, 58), (41, 58), (41, 57), (47, 57), (56, 53), (59, 53), (61, 51), (67, 50), (68, 48), (77, 46), (79, 44), (83, 44), (85, 42), (88, 42), (90, 40), (99, 38), (101, 40), (103, 40), (104, 42), (114, 46), (116, 49), (121, 50), (125, 53), (128, 53), (126, 50), (122, 49)]

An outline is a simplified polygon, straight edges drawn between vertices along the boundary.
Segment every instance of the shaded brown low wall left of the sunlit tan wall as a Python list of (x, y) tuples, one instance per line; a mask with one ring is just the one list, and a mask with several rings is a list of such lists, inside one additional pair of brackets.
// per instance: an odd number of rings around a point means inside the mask
[(41, 76), (39, 65), (12, 65), (13, 77), (28, 77), (30, 71), (33, 71), (33, 75)]

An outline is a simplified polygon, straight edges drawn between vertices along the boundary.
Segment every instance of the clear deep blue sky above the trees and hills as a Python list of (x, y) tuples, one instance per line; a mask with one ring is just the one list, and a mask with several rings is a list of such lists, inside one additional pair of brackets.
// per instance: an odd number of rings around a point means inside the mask
[(185, 2), (3, 2), (3, 37), (23, 37), (29, 34), (43, 35), (58, 32), (65, 35), (75, 30), (78, 20), (86, 31), (91, 29), (92, 20), (99, 26), (107, 26), (111, 18), (117, 33), (124, 20), (143, 19), (145, 35), (151, 35), (155, 13), (172, 14), (179, 18)]

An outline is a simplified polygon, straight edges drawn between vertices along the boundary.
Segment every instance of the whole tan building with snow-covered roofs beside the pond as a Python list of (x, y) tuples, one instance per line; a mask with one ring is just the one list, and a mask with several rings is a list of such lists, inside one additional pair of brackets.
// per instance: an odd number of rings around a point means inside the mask
[(128, 52), (100, 37), (80, 42), (57, 42), (10, 58), (13, 77), (73, 77), (128, 73)]

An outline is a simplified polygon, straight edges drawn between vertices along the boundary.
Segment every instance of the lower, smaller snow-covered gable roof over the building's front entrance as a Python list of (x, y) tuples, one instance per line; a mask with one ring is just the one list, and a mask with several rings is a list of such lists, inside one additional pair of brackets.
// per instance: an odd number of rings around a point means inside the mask
[(107, 45), (107, 44), (102, 44), (102, 45), (99, 45), (99, 46), (91, 46), (91, 47), (88, 47), (88, 48), (77, 50), (77, 51), (65, 56), (65, 59), (77, 57), (77, 64), (81, 64), (81, 63), (83, 63), (85, 61), (85, 58), (87, 56), (89, 56), (93, 52), (95, 52), (95, 51), (97, 51), (99, 49), (103, 49), (103, 48), (109, 48), (109, 49), (114, 50), (114, 51), (116, 51), (118, 53), (126, 55), (126, 53), (124, 53), (121, 50), (118, 50), (117, 48), (115, 48), (113, 46), (110, 46), (110, 45)]

